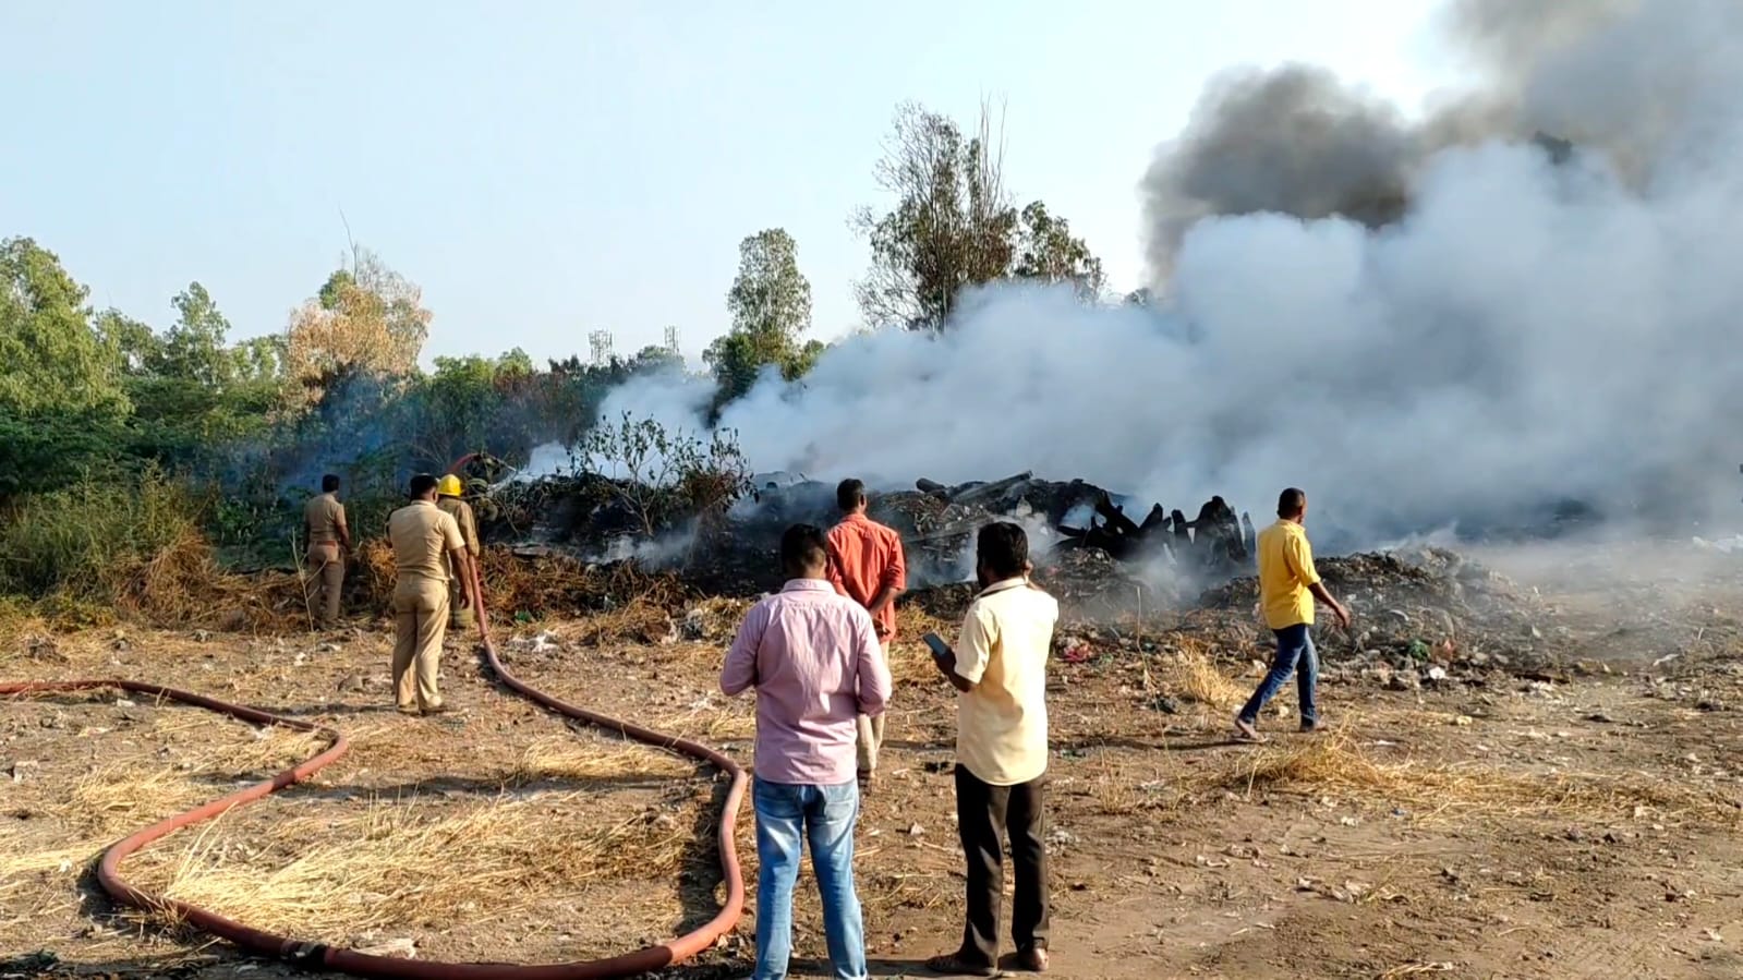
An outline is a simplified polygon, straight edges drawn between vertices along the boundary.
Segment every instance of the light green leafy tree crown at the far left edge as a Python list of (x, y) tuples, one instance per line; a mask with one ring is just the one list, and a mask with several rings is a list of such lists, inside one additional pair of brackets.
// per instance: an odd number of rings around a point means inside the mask
[(120, 347), (92, 328), (85, 296), (52, 251), (0, 242), (0, 412), (127, 413)]

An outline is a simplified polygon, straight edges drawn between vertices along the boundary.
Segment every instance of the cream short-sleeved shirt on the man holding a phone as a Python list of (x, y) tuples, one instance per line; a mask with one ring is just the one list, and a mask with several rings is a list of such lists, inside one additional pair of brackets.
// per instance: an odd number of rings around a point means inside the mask
[(969, 603), (957, 638), (957, 762), (992, 786), (1048, 771), (1048, 652), (1060, 603), (1027, 579), (994, 582)]

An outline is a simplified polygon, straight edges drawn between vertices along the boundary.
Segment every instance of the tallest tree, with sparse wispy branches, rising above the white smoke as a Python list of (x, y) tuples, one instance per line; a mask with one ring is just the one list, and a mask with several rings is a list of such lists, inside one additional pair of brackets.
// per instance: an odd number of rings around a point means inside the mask
[(941, 330), (964, 289), (1009, 277), (1100, 291), (1102, 263), (1067, 221), (1039, 201), (1021, 213), (1013, 204), (990, 105), (964, 138), (952, 119), (903, 103), (873, 173), (896, 206), (854, 216), (872, 246), (872, 269), (854, 284), (868, 323)]

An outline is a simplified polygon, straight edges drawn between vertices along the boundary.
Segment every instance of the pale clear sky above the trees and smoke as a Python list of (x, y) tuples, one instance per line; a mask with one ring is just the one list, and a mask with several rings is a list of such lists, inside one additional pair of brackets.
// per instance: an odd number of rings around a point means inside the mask
[[(1429, 0), (0, 5), (0, 237), (164, 328), (200, 281), (282, 330), (347, 235), (424, 288), (425, 361), (619, 354), (727, 328), (783, 227), (814, 333), (861, 323), (849, 228), (898, 103), (1004, 105), (1006, 183), (1142, 284), (1136, 185), (1231, 66), (1326, 65), (1414, 106), (1455, 77)], [(347, 232), (349, 228), (349, 232)]]

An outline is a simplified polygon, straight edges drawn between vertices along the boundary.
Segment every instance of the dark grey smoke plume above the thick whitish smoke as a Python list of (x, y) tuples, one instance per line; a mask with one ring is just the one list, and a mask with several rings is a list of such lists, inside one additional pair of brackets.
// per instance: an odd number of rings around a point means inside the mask
[(1597, 150), (1642, 185), (1703, 112), (1692, 98), (1713, 91), (1740, 10), (1729, 0), (1459, 0), (1441, 21), (1478, 82), (1440, 94), (1419, 120), (1323, 68), (1227, 73), (1142, 181), (1150, 267), (1166, 279), (1182, 237), (1208, 216), (1394, 223), (1426, 160), (1457, 145), (1536, 140), (1563, 159)]

